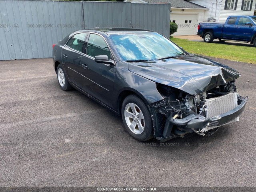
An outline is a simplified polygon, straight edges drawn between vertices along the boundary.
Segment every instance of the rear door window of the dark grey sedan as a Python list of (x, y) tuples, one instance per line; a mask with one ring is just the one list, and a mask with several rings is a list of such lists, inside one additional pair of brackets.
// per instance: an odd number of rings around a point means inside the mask
[(70, 48), (82, 52), (83, 46), (85, 44), (87, 33), (78, 33), (75, 34), (70, 40), (67, 42), (67, 46)]

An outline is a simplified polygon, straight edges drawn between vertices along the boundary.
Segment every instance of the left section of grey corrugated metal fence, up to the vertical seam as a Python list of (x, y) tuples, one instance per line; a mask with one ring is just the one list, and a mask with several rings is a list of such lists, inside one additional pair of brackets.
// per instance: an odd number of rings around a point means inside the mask
[(0, 60), (52, 57), (52, 44), (83, 28), (80, 2), (0, 0), (0, 13)]

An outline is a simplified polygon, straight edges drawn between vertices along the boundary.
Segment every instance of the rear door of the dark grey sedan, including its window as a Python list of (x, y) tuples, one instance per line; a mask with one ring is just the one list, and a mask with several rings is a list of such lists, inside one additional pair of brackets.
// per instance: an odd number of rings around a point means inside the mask
[(69, 80), (80, 87), (82, 76), (81, 70), (82, 52), (85, 48), (85, 41), (88, 33), (78, 33), (72, 36), (62, 47), (62, 64), (68, 75)]

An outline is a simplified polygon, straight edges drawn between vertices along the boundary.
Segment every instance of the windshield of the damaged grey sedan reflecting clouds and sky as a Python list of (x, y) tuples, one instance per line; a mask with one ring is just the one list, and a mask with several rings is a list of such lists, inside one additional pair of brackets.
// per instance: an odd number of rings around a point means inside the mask
[(185, 53), (155, 32), (113, 34), (110, 39), (124, 61), (160, 60)]

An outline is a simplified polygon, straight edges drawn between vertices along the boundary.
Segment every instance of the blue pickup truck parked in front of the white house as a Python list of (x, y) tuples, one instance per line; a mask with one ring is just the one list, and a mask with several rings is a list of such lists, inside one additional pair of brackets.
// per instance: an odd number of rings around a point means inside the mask
[(223, 23), (200, 23), (198, 35), (204, 42), (214, 39), (250, 42), (256, 46), (256, 16), (229, 16)]

